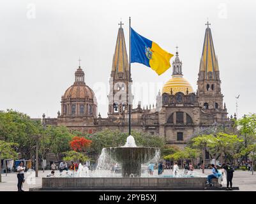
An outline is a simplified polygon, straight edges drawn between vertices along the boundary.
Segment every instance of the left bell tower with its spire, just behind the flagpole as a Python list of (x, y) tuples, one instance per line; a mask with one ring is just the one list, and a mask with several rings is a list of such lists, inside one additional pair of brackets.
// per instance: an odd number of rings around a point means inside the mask
[[(123, 23), (120, 22), (116, 40), (116, 48), (112, 61), (109, 79), (109, 117), (124, 118), (128, 111), (129, 62), (124, 40)], [(131, 96), (133, 98), (133, 96)], [(132, 107), (131, 107), (132, 108)]]

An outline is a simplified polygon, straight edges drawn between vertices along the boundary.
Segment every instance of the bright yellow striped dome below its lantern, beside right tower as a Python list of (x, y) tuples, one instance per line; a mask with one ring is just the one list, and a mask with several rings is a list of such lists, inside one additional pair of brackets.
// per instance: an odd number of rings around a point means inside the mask
[(183, 92), (183, 94), (186, 94), (187, 89), (188, 93), (194, 92), (190, 82), (188, 82), (186, 78), (183, 78), (183, 75), (174, 75), (163, 86), (162, 93), (170, 94), (170, 89), (172, 89), (172, 94), (176, 94), (176, 92)]

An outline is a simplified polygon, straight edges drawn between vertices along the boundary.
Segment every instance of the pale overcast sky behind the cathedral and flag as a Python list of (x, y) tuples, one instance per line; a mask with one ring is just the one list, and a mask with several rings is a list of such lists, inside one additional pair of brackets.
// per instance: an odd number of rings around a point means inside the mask
[[(61, 96), (73, 84), (82, 59), (86, 84), (107, 116), (107, 94), (119, 21), (128, 46), (128, 17), (137, 33), (174, 54), (179, 47), (183, 75), (197, 89), (199, 59), (207, 18), (218, 55), (222, 93), (229, 114), (256, 112), (256, 1), (33, 1), (0, 2), (0, 110), (13, 108), (31, 117), (56, 117)], [(172, 58), (174, 59), (174, 58)], [(132, 64), (134, 105), (156, 103), (172, 68), (158, 77)], [(143, 76), (143, 77), (142, 77)], [(100, 87), (103, 87), (103, 89)], [(104, 88), (105, 87), (105, 88)]]

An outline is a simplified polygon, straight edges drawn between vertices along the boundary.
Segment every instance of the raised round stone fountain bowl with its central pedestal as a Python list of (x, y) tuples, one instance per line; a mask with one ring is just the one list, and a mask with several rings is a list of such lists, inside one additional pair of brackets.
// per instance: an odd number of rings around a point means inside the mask
[(105, 152), (122, 166), (123, 177), (140, 177), (141, 164), (151, 161), (159, 148), (156, 147), (109, 147)]

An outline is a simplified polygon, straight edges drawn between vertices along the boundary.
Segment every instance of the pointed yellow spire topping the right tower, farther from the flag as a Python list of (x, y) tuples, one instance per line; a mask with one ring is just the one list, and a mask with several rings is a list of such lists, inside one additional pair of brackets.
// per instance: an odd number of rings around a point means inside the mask
[(202, 48), (202, 57), (200, 61), (200, 71), (205, 72), (205, 79), (216, 79), (215, 72), (219, 71), (218, 60), (215, 55), (215, 47), (213, 46), (213, 37), (209, 22), (207, 22), (206, 34), (204, 35), (204, 47)]

